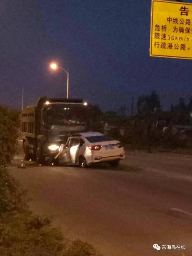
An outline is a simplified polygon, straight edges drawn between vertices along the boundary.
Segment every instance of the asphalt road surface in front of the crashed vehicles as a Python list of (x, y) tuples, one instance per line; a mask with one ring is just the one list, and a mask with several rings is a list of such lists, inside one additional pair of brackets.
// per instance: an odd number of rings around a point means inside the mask
[(10, 173), (29, 191), (30, 208), (54, 215), (66, 236), (93, 244), (104, 256), (192, 255), (191, 157), (128, 152), (118, 168), (18, 169), (21, 157)]

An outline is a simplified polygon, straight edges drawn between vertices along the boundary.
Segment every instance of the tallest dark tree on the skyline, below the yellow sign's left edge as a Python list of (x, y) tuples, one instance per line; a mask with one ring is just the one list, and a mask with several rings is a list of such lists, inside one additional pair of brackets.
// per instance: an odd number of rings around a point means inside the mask
[(160, 99), (153, 90), (150, 95), (140, 96), (137, 101), (137, 112), (139, 114), (150, 113), (160, 108)]

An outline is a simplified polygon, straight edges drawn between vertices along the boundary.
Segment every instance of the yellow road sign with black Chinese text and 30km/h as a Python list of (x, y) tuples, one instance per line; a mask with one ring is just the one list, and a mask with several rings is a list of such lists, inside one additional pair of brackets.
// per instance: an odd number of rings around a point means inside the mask
[(150, 56), (192, 59), (192, 4), (152, 0)]

